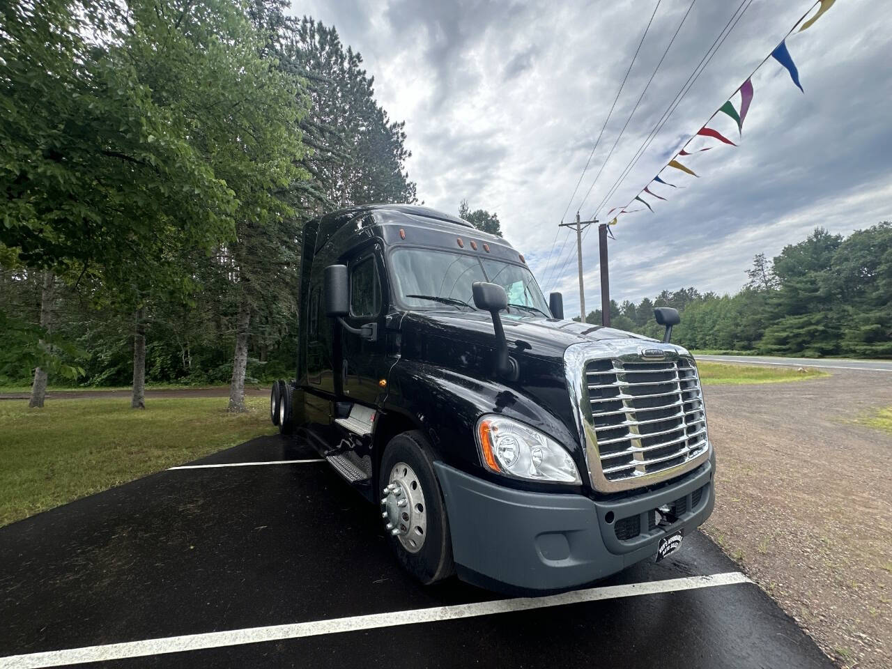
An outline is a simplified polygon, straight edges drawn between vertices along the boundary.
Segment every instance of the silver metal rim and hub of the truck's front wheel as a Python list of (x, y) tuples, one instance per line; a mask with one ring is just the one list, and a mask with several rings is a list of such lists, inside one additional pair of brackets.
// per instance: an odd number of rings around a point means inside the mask
[(405, 462), (396, 463), (381, 492), (384, 526), (400, 540), (404, 549), (417, 553), (425, 545), (427, 508), (415, 471)]

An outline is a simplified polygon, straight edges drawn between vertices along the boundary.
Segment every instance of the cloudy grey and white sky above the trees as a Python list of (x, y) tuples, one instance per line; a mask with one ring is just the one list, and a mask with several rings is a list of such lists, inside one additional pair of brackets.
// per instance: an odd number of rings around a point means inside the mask
[[(293, 12), (334, 24), (363, 55), (378, 100), (392, 119), (406, 121), (419, 200), (455, 212), (466, 198), (472, 209), (497, 212), (543, 290), (562, 291), (571, 315), (579, 305), (575, 235), (561, 228), (556, 239), (562, 216), (572, 220), (578, 209), (583, 220), (596, 212), (604, 219), (629, 202), (810, 4), (660, 0), (572, 200), (657, 0), (310, 0), (294, 2)], [(607, 197), (741, 6), (690, 92)], [(666, 169), (661, 176), (684, 188), (651, 187), (667, 198), (645, 195), (656, 213), (619, 219), (611, 296), (639, 301), (687, 285), (734, 292), (757, 252), (775, 255), (819, 225), (847, 234), (892, 219), (890, 36), (892, 16), (871, 0), (839, 0), (790, 36), (805, 95), (773, 60), (756, 72), (743, 136), (724, 115), (709, 123), (739, 147), (698, 140), (697, 148), (716, 145), (682, 159), (700, 178)], [(739, 95), (732, 100), (739, 108)], [(599, 304), (594, 229), (582, 254), (591, 310)]]

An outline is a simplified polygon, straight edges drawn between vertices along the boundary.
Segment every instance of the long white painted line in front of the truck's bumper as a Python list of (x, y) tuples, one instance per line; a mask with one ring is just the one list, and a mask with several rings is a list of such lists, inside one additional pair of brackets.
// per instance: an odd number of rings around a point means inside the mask
[(602, 588), (589, 588), (564, 592), (547, 597), (496, 599), (495, 601), (458, 604), (450, 607), (417, 608), (410, 611), (392, 611), (381, 614), (353, 615), (345, 618), (315, 620), (310, 623), (271, 625), (268, 627), (251, 627), (244, 630), (228, 630), (227, 632), (206, 632), (203, 634), (187, 634), (165, 639), (147, 639), (142, 641), (126, 641), (110, 643), (103, 646), (87, 646), (84, 648), (68, 648), (50, 650), (45, 653), (29, 653), (0, 657), (0, 669), (37, 669), (37, 667), (80, 665), (87, 662), (107, 662), (127, 657), (145, 657), (164, 653), (181, 653), (186, 650), (203, 648), (220, 648), (238, 646), (261, 641), (277, 641), (299, 639), (320, 634), (336, 634), (338, 632), (357, 632), (396, 625), (435, 623), (443, 620), (458, 620), (477, 615), (510, 613), (512, 611), (529, 611), (534, 608), (558, 607), (565, 604), (598, 601), (599, 599), (616, 599), (634, 597), (636, 595), (653, 595), (660, 592), (674, 592), (709, 588), (716, 585), (732, 585), (751, 582), (744, 574), (729, 572), (727, 574), (711, 574), (708, 576), (689, 576), (673, 578), (665, 581), (646, 583), (630, 583), (628, 585), (608, 585)]

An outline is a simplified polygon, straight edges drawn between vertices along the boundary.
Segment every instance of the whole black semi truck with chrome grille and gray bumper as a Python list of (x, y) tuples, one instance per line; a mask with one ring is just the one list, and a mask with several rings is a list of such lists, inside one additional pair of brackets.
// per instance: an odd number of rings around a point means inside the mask
[(714, 504), (697, 365), (565, 320), (504, 239), (425, 207), (303, 231), (297, 377), (270, 415), (380, 508), (401, 564), (560, 591), (660, 559)]

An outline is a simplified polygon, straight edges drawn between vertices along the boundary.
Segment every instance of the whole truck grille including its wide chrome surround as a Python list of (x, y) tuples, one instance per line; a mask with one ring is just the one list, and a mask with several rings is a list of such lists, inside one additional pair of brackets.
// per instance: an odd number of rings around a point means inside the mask
[[(640, 342), (578, 343), (564, 354), (567, 388), (597, 491), (665, 481), (699, 467), (712, 452), (694, 359), (681, 346), (665, 343), (657, 344), (665, 350), (663, 359), (642, 358)], [(653, 392), (638, 394), (639, 389)], [(661, 415), (666, 411), (671, 413)]]

